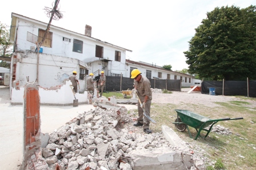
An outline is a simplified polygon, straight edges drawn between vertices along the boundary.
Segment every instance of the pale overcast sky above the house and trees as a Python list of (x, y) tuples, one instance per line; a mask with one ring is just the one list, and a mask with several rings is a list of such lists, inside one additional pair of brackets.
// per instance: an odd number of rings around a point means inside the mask
[[(55, 0), (9, 0), (1, 3), (0, 22), (10, 26), (11, 13), (48, 23), (45, 7)], [(215, 7), (256, 5), (256, 0), (60, 0), (63, 18), (51, 24), (79, 34), (85, 25), (92, 27), (91, 36), (119, 47), (130, 49), (126, 59), (163, 66), (173, 71), (188, 68), (183, 52), (207, 12)]]

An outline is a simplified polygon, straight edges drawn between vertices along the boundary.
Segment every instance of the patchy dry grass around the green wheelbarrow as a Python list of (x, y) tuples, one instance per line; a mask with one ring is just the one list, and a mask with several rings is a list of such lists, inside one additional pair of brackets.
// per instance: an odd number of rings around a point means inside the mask
[[(254, 101), (255, 99), (247, 100)], [(204, 148), (207, 151), (207, 157), (215, 161), (215, 164), (207, 166), (207, 169), (256, 169), (256, 150), (254, 149), (256, 147), (256, 132), (255, 124), (251, 123), (251, 121), (256, 122), (256, 110), (248, 109), (250, 102), (244, 101), (243, 97), (238, 98), (237, 101), (217, 102), (216, 104), (218, 107), (211, 108), (189, 103), (179, 105), (152, 103), (151, 117), (157, 123), (151, 123), (151, 129), (154, 132), (160, 132), (161, 126), (167, 125), (173, 128), (183, 140), (191, 143), (187, 130), (179, 132), (172, 123), (177, 118), (174, 109), (196, 110), (193, 112), (211, 119), (243, 117), (242, 120), (219, 121), (216, 124), (229, 128), (233, 132), (232, 135), (218, 135), (210, 132), (207, 138), (199, 137), (197, 140), (192, 140), (192, 143)], [(197, 135), (194, 128), (190, 127), (190, 131), (193, 137)], [(202, 131), (201, 134), (204, 136), (206, 132)]]

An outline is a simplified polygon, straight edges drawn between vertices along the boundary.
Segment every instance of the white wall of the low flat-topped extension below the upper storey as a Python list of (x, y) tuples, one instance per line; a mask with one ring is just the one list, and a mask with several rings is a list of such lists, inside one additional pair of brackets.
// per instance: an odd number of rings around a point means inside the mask
[[(16, 56), (16, 57), (14, 57)], [(25, 85), (27, 78), (35, 81), (37, 78), (37, 53), (15, 52), (13, 53), (12, 65), (16, 64), (15, 80), (19, 80), (21, 86)], [(77, 71), (79, 79), (79, 60), (69, 57), (61, 57), (39, 53), (38, 84), (45, 88), (62, 85), (63, 81)], [(80, 90), (85, 91), (85, 80), (79, 80)]]

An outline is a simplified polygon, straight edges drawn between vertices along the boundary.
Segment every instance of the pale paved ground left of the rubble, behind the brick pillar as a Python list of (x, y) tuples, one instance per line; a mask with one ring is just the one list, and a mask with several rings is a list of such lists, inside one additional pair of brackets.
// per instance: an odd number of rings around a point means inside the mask
[[(23, 106), (10, 104), (9, 86), (0, 86), (0, 170), (17, 170), (22, 163)], [(124, 105), (137, 109), (135, 105)], [(41, 132), (51, 133), (66, 122), (94, 109), (93, 105), (40, 106)]]

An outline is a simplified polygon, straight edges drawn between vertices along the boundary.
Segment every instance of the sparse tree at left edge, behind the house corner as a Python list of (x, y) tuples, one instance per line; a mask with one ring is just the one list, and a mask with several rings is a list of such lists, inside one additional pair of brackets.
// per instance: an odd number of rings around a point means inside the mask
[(9, 42), (10, 30), (6, 29), (6, 25), (0, 22), (0, 56), (11, 56), (12, 44)]

